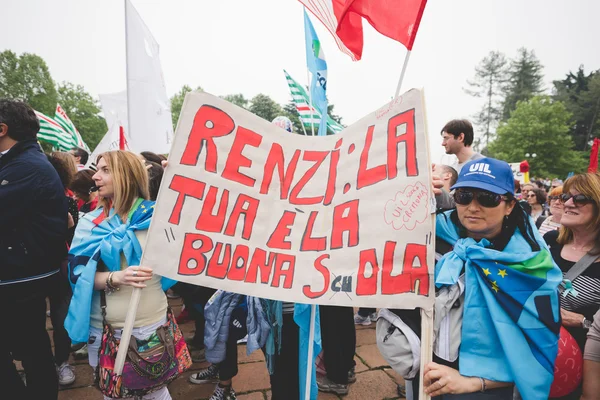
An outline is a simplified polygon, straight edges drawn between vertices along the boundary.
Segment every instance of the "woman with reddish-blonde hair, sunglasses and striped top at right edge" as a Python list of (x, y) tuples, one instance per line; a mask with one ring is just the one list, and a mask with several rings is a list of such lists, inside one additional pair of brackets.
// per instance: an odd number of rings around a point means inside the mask
[[(556, 264), (567, 273), (586, 254), (596, 261), (560, 296), (563, 326), (583, 351), (588, 329), (600, 308), (600, 175), (581, 174), (569, 178), (561, 195), (562, 227), (544, 235)], [(573, 394), (578, 398), (579, 393)]]

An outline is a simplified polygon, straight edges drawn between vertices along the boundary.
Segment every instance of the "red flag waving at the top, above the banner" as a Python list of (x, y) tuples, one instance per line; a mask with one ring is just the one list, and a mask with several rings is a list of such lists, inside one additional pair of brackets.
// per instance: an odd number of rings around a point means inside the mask
[(427, 0), (299, 0), (354, 61), (363, 49), (362, 19), (412, 50)]

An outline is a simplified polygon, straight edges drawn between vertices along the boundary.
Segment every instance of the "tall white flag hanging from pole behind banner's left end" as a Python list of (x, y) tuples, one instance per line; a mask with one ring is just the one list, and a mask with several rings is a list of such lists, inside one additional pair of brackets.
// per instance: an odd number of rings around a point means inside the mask
[(129, 0), (125, 0), (125, 32), (129, 146), (135, 152), (166, 154), (171, 150), (173, 123), (159, 46)]

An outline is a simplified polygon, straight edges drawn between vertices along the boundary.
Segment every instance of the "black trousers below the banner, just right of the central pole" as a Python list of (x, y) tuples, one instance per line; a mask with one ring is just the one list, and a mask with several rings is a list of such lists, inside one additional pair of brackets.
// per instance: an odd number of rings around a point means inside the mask
[(327, 377), (348, 384), (348, 372), (355, 365), (356, 330), (352, 307), (319, 306), (321, 341)]

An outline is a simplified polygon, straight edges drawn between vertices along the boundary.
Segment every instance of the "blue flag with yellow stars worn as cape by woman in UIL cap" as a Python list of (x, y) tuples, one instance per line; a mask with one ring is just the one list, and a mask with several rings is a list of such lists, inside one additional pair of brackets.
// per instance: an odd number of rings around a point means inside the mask
[(532, 235), (540, 251), (532, 251), (518, 229), (498, 251), (486, 239), (460, 238), (451, 213), (437, 217), (437, 236), (454, 248), (438, 261), (435, 283), (452, 285), (465, 268), (461, 375), (515, 382), (524, 400), (548, 398), (558, 351), (560, 269), (537, 229)]

